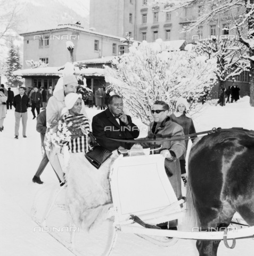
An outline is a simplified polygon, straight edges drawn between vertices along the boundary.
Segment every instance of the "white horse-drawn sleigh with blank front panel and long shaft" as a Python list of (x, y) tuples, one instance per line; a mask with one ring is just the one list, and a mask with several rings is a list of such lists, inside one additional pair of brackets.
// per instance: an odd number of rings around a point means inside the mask
[[(160, 245), (171, 246), (177, 242), (178, 238), (196, 239), (196, 240), (224, 240), (226, 246), (230, 247), (227, 239), (233, 239), (233, 245), (236, 238), (253, 237), (254, 228), (236, 229), (234, 227), (225, 230), (211, 230), (216, 232), (200, 232), (200, 230), (181, 231), (181, 230), (162, 230), (156, 225), (158, 223), (168, 222), (170, 220), (178, 220), (181, 226), (185, 214), (184, 198), (177, 200), (174, 190), (170, 184), (164, 167), (165, 158), (161, 155), (119, 155), (114, 161), (110, 170), (110, 186), (112, 193), (112, 207), (109, 210), (108, 217), (103, 223), (101, 230), (104, 230), (102, 236), (99, 234), (100, 245), (103, 245), (101, 251), (96, 255), (109, 256), (117, 243), (120, 233), (135, 234), (140, 238)], [(63, 186), (55, 191), (55, 195), (50, 199), (45, 207), (45, 211), (38, 218), (37, 208), (34, 205), (32, 209), (32, 218), (40, 227), (48, 228), (48, 218), (56, 209), (61, 209), (68, 215), (63, 201)], [(182, 184), (182, 187), (183, 184)], [(184, 192), (184, 191), (183, 191)], [(184, 193), (183, 193), (184, 194)], [(61, 199), (59, 199), (62, 197)], [(48, 232), (54, 238), (58, 239), (65, 247), (67, 247), (75, 255), (89, 255), (86, 253), (87, 247), (97, 246), (90, 243), (91, 237), (95, 237), (93, 233), (86, 234), (83, 238), (79, 238), (80, 243), (85, 249), (77, 249), (77, 236), (81, 232), (77, 232), (78, 227), (74, 227), (71, 219), (69, 221), (69, 233), (65, 238), (59, 238), (55, 233)], [(101, 233), (99, 230), (99, 233)], [(105, 231), (106, 230), (106, 231)], [(62, 234), (61, 234), (62, 235)], [(95, 238), (97, 239), (97, 238)], [(99, 243), (98, 243), (99, 244)]]

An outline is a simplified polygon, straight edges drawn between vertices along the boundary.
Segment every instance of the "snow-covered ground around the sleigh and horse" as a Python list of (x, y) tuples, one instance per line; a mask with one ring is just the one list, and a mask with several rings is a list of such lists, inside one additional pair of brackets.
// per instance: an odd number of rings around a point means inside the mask
[[(89, 118), (99, 110), (87, 108)], [(254, 108), (249, 106), (249, 98), (244, 97), (238, 103), (227, 104), (225, 107), (204, 106), (200, 113), (193, 116), (196, 131), (212, 129), (212, 127), (244, 127), (254, 130)], [(34, 198), (37, 205), (43, 205), (42, 196), (51, 193), (51, 188), (58, 188), (58, 180), (48, 165), (41, 176), (43, 185), (32, 183), (42, 155), (40, 153), (40, 135), (36, 132), (36, 119), (32, 120), (31, 110), (28, 111), (27, 138), (22, 138), (20, 127), (19, 140), (14, 140), (14, 110), (7, 111), (4, 131), (0, 132), (0, 254), (26, 256), (62, 256), (73, 255), (47, 232), (34, 231), (38, 225), (31, 219), (31, 208)], [(134, 123), (141, 124), (138, 120)], [(142, 132), (141, 137), (146, 134)], [(41, 200), (40, 200), (41, 199)], [(97, 241), (88, 241), (90, 249), (86, 256), (96, 255)], [(253, 254), (254, 240), (240, 239), (233, 250), (226, 249), (220, 243), (218, 255)], [(159, 247), (132, 234), (120, 234), (112, 256), (155, 256), (155, 255), (198, 255), (195, 241), (179, 240), (171, 247)]]

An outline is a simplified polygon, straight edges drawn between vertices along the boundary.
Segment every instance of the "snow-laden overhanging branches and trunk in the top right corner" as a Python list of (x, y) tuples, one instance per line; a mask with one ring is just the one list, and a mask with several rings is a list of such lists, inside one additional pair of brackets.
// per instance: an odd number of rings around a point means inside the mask
[(249, 51), (250, 105), (254, 107), (254, 0), (154, 0), (152, 4), (165, 4), (167, 11), (175, 11), (194, 4), (202, 6), (202, 12), (185, 28), (185, 31), (191, 31), (202, 23), (213, 21), (219, 14), (234, 13), (237, 12), (236, 9), (244, 7), (245, 12), (241, 15), (232, 15), (232, 20), (240, 42), (247, 46)]

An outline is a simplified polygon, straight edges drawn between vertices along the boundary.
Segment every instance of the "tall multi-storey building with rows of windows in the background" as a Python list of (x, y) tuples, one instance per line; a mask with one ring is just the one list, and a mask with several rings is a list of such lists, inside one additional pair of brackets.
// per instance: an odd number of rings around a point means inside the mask
[[(189, 33), (181, 33), (184, 26), (202, 14), (204, 6), (198, 2), (168, 12), (168, 4), (150, 5), (153, 0), (93, 0), (90, 3), (90, 27), (95, 31), (124, 36), (128, 33), (137, 41), (154, 42), (184, 39), (193, 43), (198, 39), (236, 35), (231, 30), (232, 15), (240, 15), (244, 7), (225, 12), (214, 20), (200, 25)], [(207, 7), (207, 6), (206, 6)], [(213, 6), (209, 6), (213, 8)]]

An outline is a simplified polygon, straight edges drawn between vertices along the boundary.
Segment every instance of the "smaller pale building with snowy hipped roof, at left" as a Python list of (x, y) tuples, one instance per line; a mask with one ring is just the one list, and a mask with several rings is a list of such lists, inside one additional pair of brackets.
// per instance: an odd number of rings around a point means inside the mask
[(59, 67), (70, 61), (66, 43), (74, 44), (73, 61), (117, 56), (124, 50), (121, 37), (97, 33), (76, 24), (59, 25), (55, 29), (21, 34), (24, 37), (23, 68), (26, 61), (42, 60), (48, 66)]

